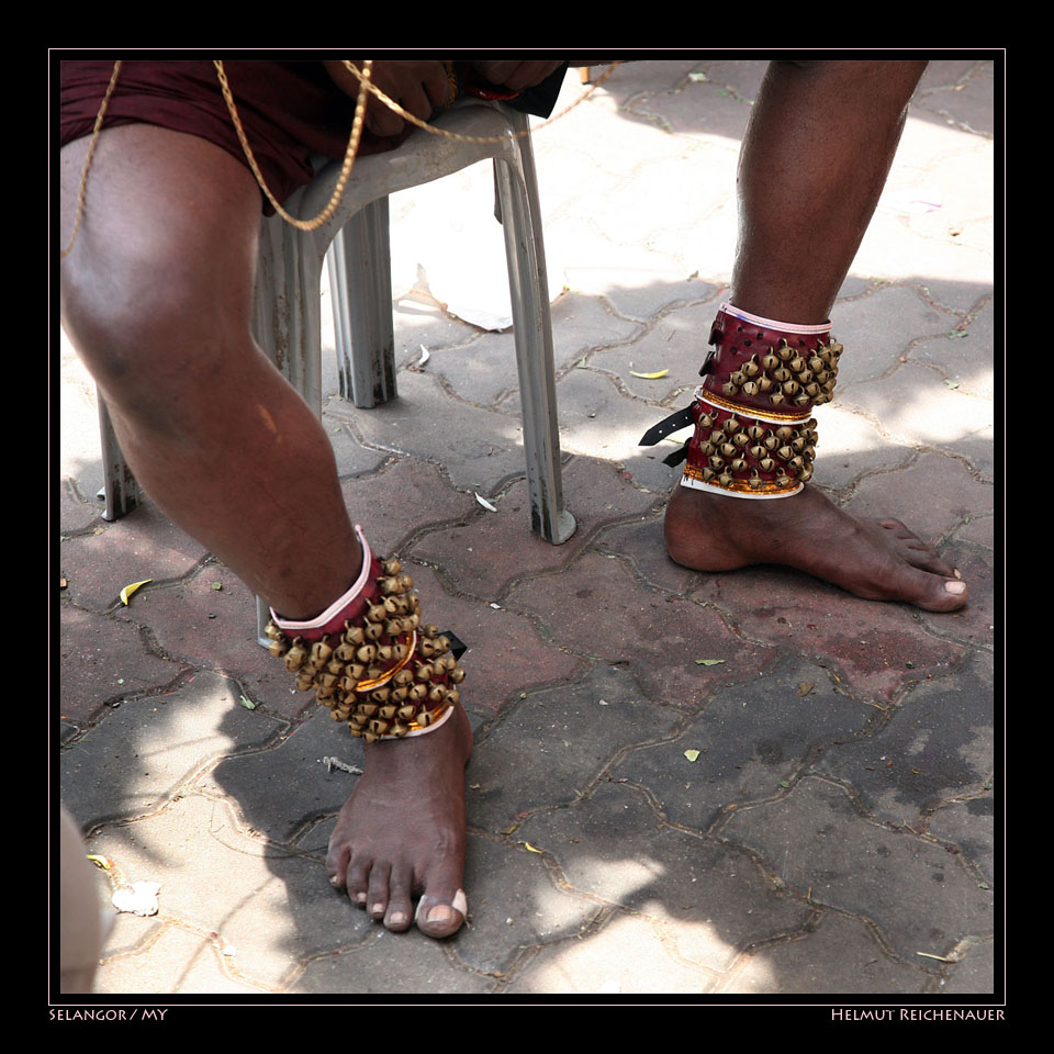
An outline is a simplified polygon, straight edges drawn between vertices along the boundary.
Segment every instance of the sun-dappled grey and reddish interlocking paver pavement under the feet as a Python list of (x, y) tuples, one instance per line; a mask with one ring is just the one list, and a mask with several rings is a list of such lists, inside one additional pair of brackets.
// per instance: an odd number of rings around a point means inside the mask
[[(536, 136), (565, 287), (557, 390), (579, 523), (565, 546), (528, 534), (512, 337), (437, 309), (425, 293), (441, 268), (418, 273), (412, 225), (441, 245), (467, 184), (392, 202), (400, 399), (355, 411), (324, 354), (349, 508), (471, 646), (471, 917), (447, 942), (388, 933), (329, 888), (326, 840), (357, 776), (323, 759), (360, 764), (361, 749), (291, 692), (255, 641), (248, 592), (197, 542), (149, 504), (101, 519), (93, 385), (65, 348), (61, 793), (114, 881), (160, 883), (156, 916), (117, 918), (100, 993), (951, 999), (1000, 987), (1000, 70), (953, 58), (927, 71), (834, 309), (848, 352), (821, 411), (817, 484), (934, 540), (971, 584), (952, 616), (784, 569), (696, 574), (662, 549), (673, 448), (637, 440), (697, 381), (763, 72), (753, 59), (627, 65)], [(561, 105), (580, 92), (571, 75)], [(485, 168), (466, 179), (489, 211)], [(431, 358), (418, 368), (422, 345)], [(142, 579), (154, 581), (122, 605)]]

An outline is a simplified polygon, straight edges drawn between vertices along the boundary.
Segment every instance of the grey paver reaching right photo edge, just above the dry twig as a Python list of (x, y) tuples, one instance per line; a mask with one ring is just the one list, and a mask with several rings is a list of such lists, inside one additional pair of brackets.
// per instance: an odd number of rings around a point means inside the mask
[(905, 962), (991, 932), (993, 895), (953, 855), (868, 822), (844, 790), (815, 777), (780, 801), (737, 810), (721, 834), (759, 853), (790, 889), (870, 919)]

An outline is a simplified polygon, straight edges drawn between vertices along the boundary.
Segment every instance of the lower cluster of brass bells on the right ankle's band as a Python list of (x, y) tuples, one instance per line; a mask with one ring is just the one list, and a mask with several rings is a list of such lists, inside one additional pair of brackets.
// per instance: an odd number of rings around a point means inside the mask
[[(756, 419), (748, 424), (732, 415), (720, 422), (717, 413), (699, 416), (700, 428), (713, 428), (709, 438), (699, 442), (699, 452), (709, 459), (702, 469), (703, 479), (721, 486), (736, 482), (733, 472), (750, 469), (747, 483), (760, 489), (764, 481), (758, 474), (775, 472), (775, 483), (789, 487), (805, 483), (812, 475), (816, 458), (816, 421), (809, 418), (801, 425), (765, 425)], [(747, 455), (752, 459), (747, 460)]]

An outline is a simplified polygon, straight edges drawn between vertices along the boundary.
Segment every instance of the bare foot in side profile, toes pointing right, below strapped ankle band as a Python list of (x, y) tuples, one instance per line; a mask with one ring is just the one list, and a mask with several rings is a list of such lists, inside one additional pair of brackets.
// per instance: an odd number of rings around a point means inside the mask
[(806, 485), (793, 497), (747, 501), (680, 484), (666, 506), (666, 551), (695, 571), (778, 563), (868, 601), (953, 612), (966, 584), (896, 519), (857, 520)]

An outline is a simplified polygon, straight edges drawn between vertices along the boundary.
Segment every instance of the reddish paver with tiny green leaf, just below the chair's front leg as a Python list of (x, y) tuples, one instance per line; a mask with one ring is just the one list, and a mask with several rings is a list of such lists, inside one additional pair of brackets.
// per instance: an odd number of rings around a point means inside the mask
[[(612, 567), (617, 570), (612, 573)], [(538, 579), (508, 596), (513, 610), (541, 620), (543, 632), (581, 654), (628, 662), (647, 697), (696, 705), (722, 683), (752, 676), (771, 650), (738, 639), (716, 610), (637, 585), (614, 557), (586, 552), (558, 584)], [(715, 665), (697, 660), (720, 659)]]

